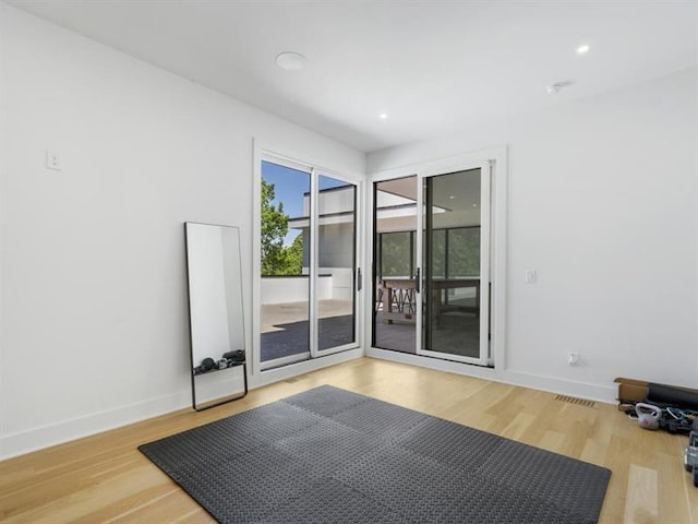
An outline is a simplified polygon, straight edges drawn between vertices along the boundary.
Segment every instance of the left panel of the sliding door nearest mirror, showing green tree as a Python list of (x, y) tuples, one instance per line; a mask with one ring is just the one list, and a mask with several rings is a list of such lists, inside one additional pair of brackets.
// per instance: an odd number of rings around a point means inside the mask
[(310, 358), (311, 172), (262, 162), (262, 369)]

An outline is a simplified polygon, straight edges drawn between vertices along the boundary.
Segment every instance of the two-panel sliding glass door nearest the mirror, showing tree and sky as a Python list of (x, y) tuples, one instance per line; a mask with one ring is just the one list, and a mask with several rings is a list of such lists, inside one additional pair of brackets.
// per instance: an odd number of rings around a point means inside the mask
[(357, 347), (357, 187), (262, 160), (261, 368)]

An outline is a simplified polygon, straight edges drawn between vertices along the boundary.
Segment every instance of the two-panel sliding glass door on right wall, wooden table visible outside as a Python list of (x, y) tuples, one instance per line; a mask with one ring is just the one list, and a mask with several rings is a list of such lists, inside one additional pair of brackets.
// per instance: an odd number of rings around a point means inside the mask
[(373, 347), (486, 366), (489, 166), (373, 189)]

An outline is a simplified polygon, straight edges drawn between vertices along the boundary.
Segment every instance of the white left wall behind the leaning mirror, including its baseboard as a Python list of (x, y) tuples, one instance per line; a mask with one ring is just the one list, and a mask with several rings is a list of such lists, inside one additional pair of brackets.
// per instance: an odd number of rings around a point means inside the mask
[[(365, 156), (0, 3), (0, 456), (189, 405), (185, 221), (241, 228), (253, 138)], [(45, 168), (46, 150), (62, 171)], [(245, 314), (251, 347), (251, 314)]]

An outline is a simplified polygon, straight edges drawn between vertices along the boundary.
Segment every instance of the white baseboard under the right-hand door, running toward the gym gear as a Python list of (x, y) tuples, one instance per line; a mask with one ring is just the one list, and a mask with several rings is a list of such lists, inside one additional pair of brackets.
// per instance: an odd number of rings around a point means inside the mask
[(467, 377), (476, 377), (479, 379), (503, 382), (505, 384), (532, 388), (534, 390), (542, 390), (551, 393), (577, 396), (590, 401), (604, 402), (609, 404), (614, 404), (616, 402), (615, 396), (617, 389), (613, 385), (605, 386), (587, 382), (561, 380), (542, 374), (470, 366), (467, 364), (452, 362), (448, 360), (441, 360), (438, 358), (423, 357), (419, 355), (411, 355), (408, 353), (390, 352), (387, 349), (378, 349), (375, 347), (366, 349), (366, 357), (409, 364), (412, 366), (435, 369), (438, 371), (447, 371), (450, 373), (464, 374)]

